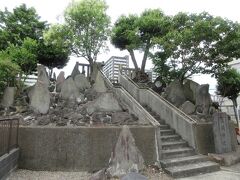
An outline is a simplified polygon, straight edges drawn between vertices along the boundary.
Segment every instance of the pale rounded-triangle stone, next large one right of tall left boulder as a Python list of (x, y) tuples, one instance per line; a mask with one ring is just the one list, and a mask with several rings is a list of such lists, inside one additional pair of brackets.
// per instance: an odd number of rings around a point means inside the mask
[(60, 97), (64, 100), (77, 100), (80, 97), (80, 93), (72, 77), (67, 78), (61, 88)]

